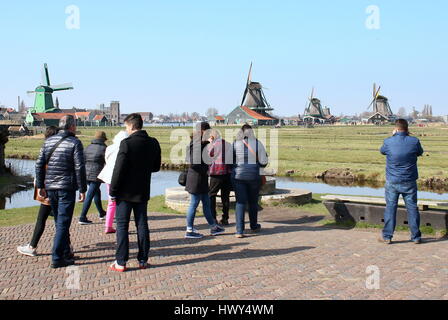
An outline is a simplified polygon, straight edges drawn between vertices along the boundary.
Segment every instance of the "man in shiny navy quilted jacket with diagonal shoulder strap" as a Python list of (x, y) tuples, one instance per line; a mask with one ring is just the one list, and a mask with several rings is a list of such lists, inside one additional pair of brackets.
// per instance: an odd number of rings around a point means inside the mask
[(74, 264), (68, 259), (70, 252), (70, 224), (79, 190), (79, 201), (84, 202), (86, 168), (81, 141), (75, 137), (76, 122), (65, 116), (60, 122), (61, 131), (48, 138), (36, 162), (36, 186), (40, 196), (50, 199), (56, 223), (52, 252), (52, 268)]

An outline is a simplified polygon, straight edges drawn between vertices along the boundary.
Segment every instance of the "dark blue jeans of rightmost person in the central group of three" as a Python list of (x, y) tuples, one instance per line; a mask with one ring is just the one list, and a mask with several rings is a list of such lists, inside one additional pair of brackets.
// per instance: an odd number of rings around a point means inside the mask
[(245, 229), (244, 213), (249, 204), (249, 221), (252, 230), (258, 225), (258, 197), (260, 195), (260, 180), (233, 180), (236, 197), (236, 233), (243, 234)]

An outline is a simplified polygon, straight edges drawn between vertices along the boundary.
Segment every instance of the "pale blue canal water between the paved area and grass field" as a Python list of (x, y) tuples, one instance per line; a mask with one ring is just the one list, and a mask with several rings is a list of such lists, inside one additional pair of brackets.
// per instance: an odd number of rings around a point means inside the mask
[[(7, 159), (6, 163), (21, 174), (29, 174), (34, 176), (34, 160), (16, 160)], [(161, 171), (153, 174), (151, 183), (151, 196), (160, 196), (165, 194), (165, 189), (178, 187), (177, 179), (179, 172), (177, 171)], [(294, 178), (278, 177), (277, 188), (296, 188), (305, 189), (313, 193), (330, 193), (338, 195), (353, 196), (384, 196), (384, 188), (360, 187), (360, 186), (335, 186), (322, 182), (303, 182)], [(38, 203), (33, 200), (33, 189), (20, 191), (13, 194), (10, 198), (0, 199), (1, 209), (26, 208), (36, 206)], [(107, 200), (106, 186), (101, 187), (101, 196), (103, 200)], [(439, 194), (435, 192), (419, 192), (420, 199), (448, 200), (448, 194)]]

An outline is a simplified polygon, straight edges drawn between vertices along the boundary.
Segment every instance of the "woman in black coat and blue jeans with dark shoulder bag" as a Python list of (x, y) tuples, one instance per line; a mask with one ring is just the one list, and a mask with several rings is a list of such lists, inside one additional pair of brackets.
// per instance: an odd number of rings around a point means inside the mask
[(190, 193), (191, 202), (187, 212), (187, 232), (185, 234), (185, 238), (187, 239), (200, 239), (203, 237), (203, 235), (198, 233), (194, 228), (194, 218), (200, 202), (202, 202), (204, 217), (207, 219), (211, 228), (210, 234), (217, 236), (225, 231), (224, 228), (216, 223), (210, 207), (210, 198), (208, 195), (208, 165), (203, 158), (203, 155), (205, 154), (204, 148), (206, 148), (208, 144), (208, 141), (205, 141), (204, 139), (207, 130), (210, 130), (210, 125), (207, 122), (202, 122), (193, 134), (188, 148), (190, 168), (187, 173), (185, 190)]

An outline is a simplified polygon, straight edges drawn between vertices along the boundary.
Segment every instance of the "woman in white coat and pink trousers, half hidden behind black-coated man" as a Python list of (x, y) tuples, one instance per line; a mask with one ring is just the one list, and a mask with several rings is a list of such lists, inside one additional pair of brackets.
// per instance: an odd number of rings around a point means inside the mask
[[(120, 131), (114, 138), (114, 142), (111, 146), (106, 149), (106, 165), (104, 166), (103, 171), (98, 176), (98, 179), (104, 181), (107, 187), (107, 194), (109, 194), (109, 187), (112, 181), (112, 175), (114, 173), (115, 161), (117, 160), (118, 150), (120, 149), (121, 142), (126, 139), (129, 134), (126, 131)], [(115, 229), (113, 228), (114, 218), (115, 218), (115, 210), (116, 203), (109, 198), (109, 202), (107, 204), (107, 213), (106, 213), (106, 234), (115, 233)]]

